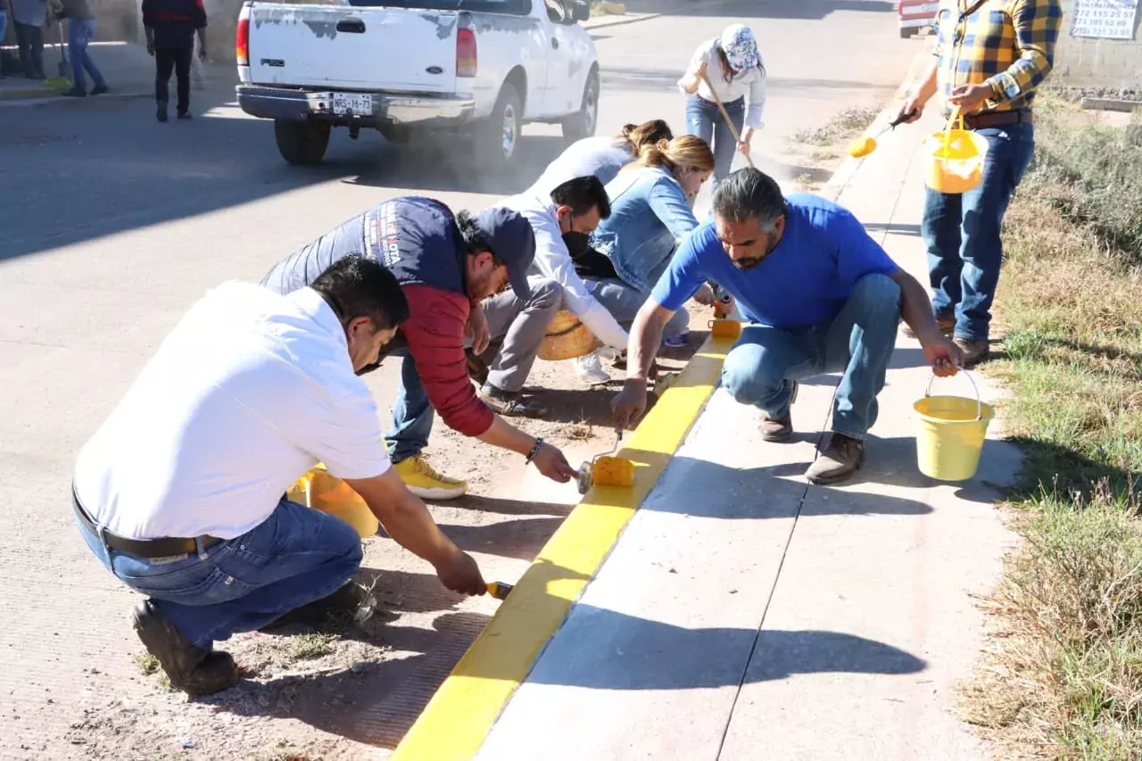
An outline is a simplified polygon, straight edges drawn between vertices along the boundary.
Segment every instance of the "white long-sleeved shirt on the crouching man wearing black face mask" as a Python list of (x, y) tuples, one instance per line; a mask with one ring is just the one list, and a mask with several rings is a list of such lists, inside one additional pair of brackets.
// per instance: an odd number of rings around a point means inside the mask
[(513, 195), (500, 206), (518, 211), (531, 223), (536, 233), (536, 259), (531, 267), (550, 278), (563, 288), (563, 305), (579, 318), (595, 337), (608, 346), (626, 349), (629, 336), (606, 307), (587, 290), (587, 285), (574, 271), (571, 253), (563, 242), (563, 232), (555, 215), (555, 205), (529, 193)]

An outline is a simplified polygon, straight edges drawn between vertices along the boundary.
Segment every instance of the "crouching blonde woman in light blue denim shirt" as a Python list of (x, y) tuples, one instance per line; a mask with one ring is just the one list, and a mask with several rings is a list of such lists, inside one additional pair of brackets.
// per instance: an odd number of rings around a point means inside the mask
[[(675, 249), (698, 226), (690, 200), (714, 171), (706, 141), (682, 135), (643, 146), (638, 158), (606, 185), (611, 216), (576, 257), (576, 272), (619, 325), (629, 328)], [(683, 346), (690, 317), (678, 310), (664, 331), (667, 346)], [(605, 383), (597, 354), (574, 360), (579, 377)]]

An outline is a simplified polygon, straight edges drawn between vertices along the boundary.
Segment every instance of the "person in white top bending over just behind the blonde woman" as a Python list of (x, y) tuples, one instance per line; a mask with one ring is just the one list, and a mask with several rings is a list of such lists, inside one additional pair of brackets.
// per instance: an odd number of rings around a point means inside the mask
[(585, 137), (572, 143), (540, 175), (528, 192), (547, 198), (556, 187), (576, 177), (595, 176), (604, 185), (645, 145), (670, 139), (674, 134), (661, 119), (627, 125), (613, 137)]

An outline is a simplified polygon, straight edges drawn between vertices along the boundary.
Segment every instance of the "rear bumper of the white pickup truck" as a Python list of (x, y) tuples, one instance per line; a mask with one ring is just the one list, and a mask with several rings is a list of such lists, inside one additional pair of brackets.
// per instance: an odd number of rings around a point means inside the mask
[(392, 125), (453, 128), (472, 121), (476, 112), (476, 103), (471, 98), (370, 93), (371, 114), (340, 114), (333, 113), (333, 97), (329, 90), (259, 85), (238, 85), (234, 89), (242, 111), (262, 119), (316, 119), (363, 127)]

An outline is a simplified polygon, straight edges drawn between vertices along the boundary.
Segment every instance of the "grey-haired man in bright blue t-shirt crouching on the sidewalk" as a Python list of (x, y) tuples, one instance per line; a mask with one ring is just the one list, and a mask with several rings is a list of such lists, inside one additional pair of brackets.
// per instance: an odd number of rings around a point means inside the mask
[(739, 169), (715, 192), (713, 219), (686, 239), (635, 318), (627, 380), (612, 402), (618, 426), (645, 410), (662, 328), (707, 280), (729, 290), (746, 318), (722, 385), (761, 410), (762, 439), (791, 439), (798, 380), (843, 374), (833, 435), (805, 474), (812, 483), (835, 483), (860, 467), (901, 318), (933, 373), (955, 375), (963, 361), (940, 333), (927, 291), (852, 213), (809, 193), (785, 197), (764, 173)]

